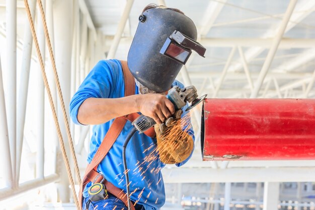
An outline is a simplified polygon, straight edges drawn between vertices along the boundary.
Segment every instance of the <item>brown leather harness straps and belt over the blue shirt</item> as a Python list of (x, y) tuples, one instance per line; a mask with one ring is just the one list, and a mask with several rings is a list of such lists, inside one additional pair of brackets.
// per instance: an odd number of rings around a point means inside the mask
[[(127, 61), (120, 61), (122, 64), (122, 70), (123, 70), (123, 75), (124, 75), (124, 82), (125, 82), (125, 97), (126, 96), (131, 96), (134, 95), (135, 91), (135, 81), (133, 76), (131, 75)], [(125, 203), (126, 206), (128, 206), (128, 200), (127, 200), (127, 195), (126, 193), (123, 192), (122, 189), (119, 189), (112, 183), (106, 180), (103, 174), (100, 174), (97, 172), (97, 167), (101, 163), (101, 161), (105, 158), (109, 150), (111, 149), (112, 145), (115, 143), (117, 137), (119, 136), (120, 132), (122, 131), (123, 127), (125, 126), (127, 120), (133, 121), (139, 116), (138, 113), (132, 113), (128, 114), (126, 116), (122, 117), (117, 117), (113, 121), (111, 127), (109, 128), (108, 132), (106, 133), (99, 149), (94, 155), (94, 158), (92, 159), (91, 163), (88, 165), (86, 169), (86, 173), (83, 177), (82, 184), (80, 186), (80, 191), (79, 191), (79, 202), (80, 202), (80, 207), (82, 209), (82, 194), (83, 190), (85, 189), (86, 185), (89, 182), (92, 183), (102, 183), (105, 185), (106, 189), (108, 192), (119, 198), (121, 201)], [(146, 130), (144, 132), (147, 136), (149, 137), (154, 137), (155, 136), (155, 131), (152, 128)], [(131, 206), (132, 210), (135, 210), (134, 205), (132, 204)]]

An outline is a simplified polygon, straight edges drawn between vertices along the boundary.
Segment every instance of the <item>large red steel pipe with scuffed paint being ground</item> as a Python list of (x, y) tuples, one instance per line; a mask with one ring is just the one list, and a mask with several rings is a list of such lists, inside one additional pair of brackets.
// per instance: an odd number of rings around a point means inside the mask
[(206, 99), (204, 161), (315, 160), (314, 99)]

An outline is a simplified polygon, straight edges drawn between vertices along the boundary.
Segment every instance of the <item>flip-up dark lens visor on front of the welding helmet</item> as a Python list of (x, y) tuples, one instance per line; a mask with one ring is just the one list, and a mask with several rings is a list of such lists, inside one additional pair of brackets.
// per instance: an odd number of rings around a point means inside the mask
[(192, 53), (192, 50), (204, 57), (206, 48), (204, 48), (197, 41), (175, 30), (165, 41), (160, 50), (160, 53), (185, 65), (190, 54)]

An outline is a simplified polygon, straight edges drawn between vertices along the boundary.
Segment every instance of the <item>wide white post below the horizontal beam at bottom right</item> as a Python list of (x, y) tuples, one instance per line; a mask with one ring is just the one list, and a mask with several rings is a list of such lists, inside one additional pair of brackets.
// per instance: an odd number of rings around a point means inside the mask
[(279, 182), (265, 182), (263, 210), (278, 210)]

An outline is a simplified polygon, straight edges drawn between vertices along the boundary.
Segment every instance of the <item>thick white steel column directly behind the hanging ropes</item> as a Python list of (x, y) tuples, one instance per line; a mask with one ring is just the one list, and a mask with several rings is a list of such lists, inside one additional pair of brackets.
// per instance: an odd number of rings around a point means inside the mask
[[(54, 1), (54, 37), (55, 40), (55, 61), (59, 75), (60, 86), (64, 98), (65, 107), (69, 107), (70, 102), (70, 69), (71, 69), (71, 44), (72, 44), (72, 2), (57, 0)], [(68, 109), (66, 109), (68, 112)], [(67, 113), (68, 115), (68, 113)], [(67, 139), (65, 125), (61, 107), (58, 104), (58, 119), (63, 139)], [(69, 152), (68, 141), (64, 141), (64, 146)], [(59, 198), (62, 202), (69, 201), (69, 181), (64, 165), (60, 166), (60, 182), (58, 183)]]

